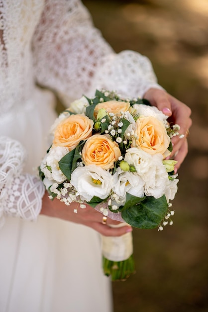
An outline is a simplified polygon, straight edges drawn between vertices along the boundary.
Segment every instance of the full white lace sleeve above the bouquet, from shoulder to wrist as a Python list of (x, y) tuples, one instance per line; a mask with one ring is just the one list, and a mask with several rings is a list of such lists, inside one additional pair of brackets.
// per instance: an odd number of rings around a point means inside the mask
[(116, 54), (96, 29), (79, 0), (46, 0), (33, 36), (37, 81), (69, 103), (96, 88), (122, 96), (142, 96), (161, 88), (150, 61), (133, 51)]

